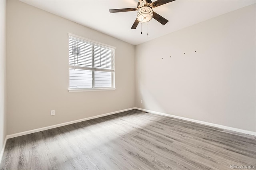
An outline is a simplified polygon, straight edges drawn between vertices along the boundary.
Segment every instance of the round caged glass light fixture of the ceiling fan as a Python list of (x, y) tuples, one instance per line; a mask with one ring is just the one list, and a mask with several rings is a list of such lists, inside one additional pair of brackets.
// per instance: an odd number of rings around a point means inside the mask
[(137, 10), (139, 22), (149, 22), (153, 17), (153, 10), (150, 6), (142, 6)]

